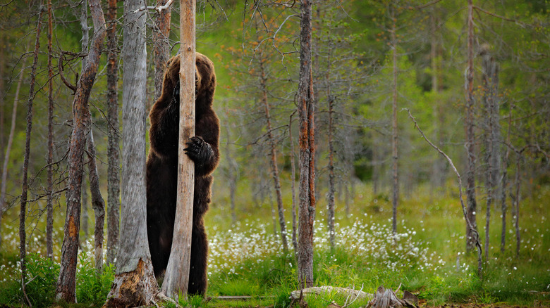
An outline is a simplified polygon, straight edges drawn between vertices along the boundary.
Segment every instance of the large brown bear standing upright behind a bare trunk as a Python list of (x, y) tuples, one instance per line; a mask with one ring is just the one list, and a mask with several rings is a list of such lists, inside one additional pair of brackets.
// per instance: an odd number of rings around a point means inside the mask
[[(180, 57), (166, 65), (162, 94), (149, 113), (151, 144), (147, 158), (147, 236), (154, 274), (166, 270), (172, 246), (178, 182)], [(195, 136), (186, 142), (185, 154), (195, 162), (193, 233), (189, 294), (204, 295), (207, 289), (208, 241), (203, 215), (210, 203), (212, 172), (219, 162), (219, 119), (212, 108), (216, 75), (209, 58), (196, 53)]]

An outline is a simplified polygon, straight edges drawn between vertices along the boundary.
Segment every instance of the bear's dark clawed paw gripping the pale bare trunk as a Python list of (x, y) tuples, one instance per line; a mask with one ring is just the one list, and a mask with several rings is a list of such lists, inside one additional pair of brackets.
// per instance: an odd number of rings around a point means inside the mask
[(195, 174), (209, 174), (216, 167), (216, 152), (201, 136), (194, 136), (185, 143), (185, 154), (195, 162)]

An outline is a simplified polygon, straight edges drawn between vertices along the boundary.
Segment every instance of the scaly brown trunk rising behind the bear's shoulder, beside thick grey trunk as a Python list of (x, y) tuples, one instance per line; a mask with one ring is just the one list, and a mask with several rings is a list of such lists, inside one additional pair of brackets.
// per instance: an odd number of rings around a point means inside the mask
[[(157, 8), (166, 6), (169, 0), (157, 0)], [(170, 58), (170, 16), (171, 6), (157, 14), (154, 20), (153, 48), (154, 48), (154, 101), (162, 94), (162, 79), (166, 70), (166, 63)]]

